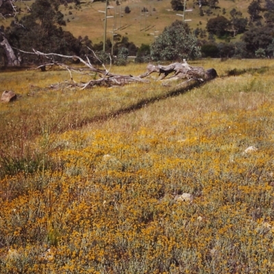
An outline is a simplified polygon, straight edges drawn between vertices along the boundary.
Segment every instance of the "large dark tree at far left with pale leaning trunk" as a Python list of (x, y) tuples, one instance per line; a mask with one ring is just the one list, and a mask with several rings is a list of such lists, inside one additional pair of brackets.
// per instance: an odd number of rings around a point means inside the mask
[[(9, 66), (18, 65), (20, 62), (39, 64), (44, 62), (45, 57), (24, 54), (23, 51), (35, 49), (44, 53), (83, 56), (88, 52), (86, 48), (92, 46), (87, 36), (75, 38), (69, 31), (62, 29), (66, 23), (59, 10), (58, 0), (34, 1), (27, 7), (29, 12), (20, 20), (18, 20), (20, 10), (12, 4), (12, 1), (10, 5), (11, 8), (5, 10), (4, 16), (13, 16), (14, 20), (10, 27), (0, 32), (0, 45), (5, 49)], [(1, 11), (3, 12), (3, 9)], [(55, 59), (61, 57), (55, 56)]]

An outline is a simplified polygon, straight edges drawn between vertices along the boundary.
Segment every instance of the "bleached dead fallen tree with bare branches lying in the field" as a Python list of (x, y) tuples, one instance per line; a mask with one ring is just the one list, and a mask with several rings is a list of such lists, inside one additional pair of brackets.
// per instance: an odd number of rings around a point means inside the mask
[[(92, 51), (92, 50), (90, 50)], [(89, 87), (95, 87), (95, 86), (107, 86), (107, 87), (113, 87), (117, 85), (125, 85), (129, 83), (150, 83), (149, 80), (145, 79), (153, 72), (156, 72), (159, 74), (158, 81), (171, 81), (171, 80), (186, 80), (188, 82), (189, 80), (192, 81), (192, 85), (195, 82), (197, 82), (197, 85), (199, 85), (203, 81), (209, 81), (211, 79), (214, 79), (217, 76), (216, 70), (214, 68), (210, 70), (204, 70), (201, 67), (193, 67), (188, 65), (186, 60), (184, 60), (183, 63), (173, 63), (168, 66), (162, 66), (162, 65), (152, 65), (149, 64), (147, 66), (147, 71), (143, 74), (140, 74), (139, 76), (132, 76), (129, 75), (121, 75), (121, 74), (114, 74), (110, 72), (110, 68), (107, 70), (103, 63), (101, 63), (101, 66), (103, 66), (103, 69), (96, 68), (93, 66), (90, 62), (90, 59), (86, 56), (86, 60), (82, 59), (82, 57), (76, 56), (76, 55), (61, 55), (58, 53), (41, 53), (40, 51), (33, 50), (32, 53), (21, 51), (23, 53), (28, 54), (35, 54), (35, 55), (42, 55), (45, 57), (45, 59), (48, 59), (49, 62), (42, 64), (41, 66), (36, 67), (35, 69), (40, 68), (42, 71), (45, 71), (47, 67), (52, 66), (59, 66), (60, 68), (67, 70), (71, 76), (71, 81), (65, 81), (62, 84), (66, 87), (79, 87), (82, 90), (89, 88)], [(97, 58), (95, 53), (92, 51), (93, 55)], [(55, 57), (62, 57), (64, 59), (73, 59), (78, 60), (82, 64), (84, 64), (84, 67), (72, 67), (68, 66), (60, 61), (55, 61)], [(97, 58), (98, 59), (98, 58)], [(99, 59), (98, 59), (99, 60)], [(100, 61), (100, 60), (99, 60)], [(77, 83), (73, 80), (73, 72), (80, 73), (80, 74), (86, 74), (91, 79), (85, 83)], [(194, 82), (193, 82), (194, 81)], [(184, 82), (183, 82), (184, 83)], [(179, 83), (181, 85), (182, 83)], [(51, 85), (51, 88), (58, 88), (60, 87), (60, 83), (57, 85)]]

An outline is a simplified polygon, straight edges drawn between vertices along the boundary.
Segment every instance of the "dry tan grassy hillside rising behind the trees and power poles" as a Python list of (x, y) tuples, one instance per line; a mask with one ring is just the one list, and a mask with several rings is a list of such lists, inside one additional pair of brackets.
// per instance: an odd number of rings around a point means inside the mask
[[(249, 17), (247, 14), (247, 7), (251, 1), (242, 0), (219, 0), (219, 5), (216, 10), (210, 16), (200, 16), (199, 6), (195, 5), (193, 1), (186, 2), (186, 8), (192, 9), (192, 12), (186, 13), (186, 19), (191, 19), (188, 22), (192, 29), (197, 27), (205, 29), (206, 23), (210, 18), (219, 15), (224, 15), (229, 18), (229, 12), (236, 8), (242, 12), (242, 16)], [(262, 3), (263, 5), (264, 3)], [(108, 18), (108, 37), (112, 39), (113, 25), (116, 27), (116, 33), (121, 34), (121, 36), (128, 36), (129, 40), (134, 42), (136, 45), (140, 44), (151, 44), (154, 41), (154, 31), (155, 36), (161, 33), (167, 25), (171, 25), (174, 20), (182, 20), (182, 16), (177, 16), (176, 14), (182, 14), (182, 12), (175, 12), (171, 8), (171, 3), (169, 0), (162, 1), (121, 1), (121, 5), (117, 6), (116, 1), (110, 1), (110, 5), (115, 8), (110, 9), (108, 12), (109, 16), (114, 16), (116, 12), (116, 19)], [(125, 6), (129, 6), (131, 12), (130, 14), (125, 14)], [(73, 7), (73, 5), (71, 5)], [(141, 13), (142, 8), (147, 8), (149, 12), (145, 16), (144, 12)], [(223, 8), (225, 8), (226, 14), (223, 14)], [(206, 10), (207, 7), (204, 7)], [(66, 20), (69, 19), (70, 23), (67, 23), (66, 29), (71, 31), (75, 36), (86, 36), (92, 40), (94, 43), (98, 43), (103, 40), (103, 29), (104, 29), (104, 14), (98, 12), (99, 10), (105, 10), (105, 4), (102, 2), (94, 3), (83, 3), (80, 5), (79, 10), (69, 10), (69, 8), (62, 8), (63, 14), (66, 14)], [(121, 17), (121, 11), (122, 16)], [(69, 12), (72, 12), (69, 15)], [(141, 15), (142, 14), (142, 15)], [(146, 27), (146, 28), (145, 28)], [(151, 34), (153, 33), (153, 34)]]

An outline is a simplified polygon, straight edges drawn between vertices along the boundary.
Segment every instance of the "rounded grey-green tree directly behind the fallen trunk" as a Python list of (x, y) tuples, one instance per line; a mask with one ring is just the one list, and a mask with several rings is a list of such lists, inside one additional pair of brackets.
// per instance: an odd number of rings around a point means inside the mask
[(201, 57), (197, 38), (181, 20), (176, 20), (151, 45), (151, 57), (154, 60), (182, 61)]

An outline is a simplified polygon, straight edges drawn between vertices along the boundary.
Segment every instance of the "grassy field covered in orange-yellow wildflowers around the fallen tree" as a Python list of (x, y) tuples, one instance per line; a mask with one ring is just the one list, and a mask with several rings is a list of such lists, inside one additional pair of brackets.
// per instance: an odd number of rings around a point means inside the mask
[(0, 73), (0, 273), (273, 273), (274, 62), (192, 65), (219, 78), (173, 97)]

